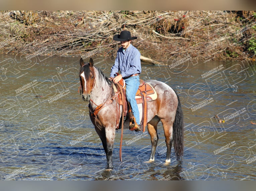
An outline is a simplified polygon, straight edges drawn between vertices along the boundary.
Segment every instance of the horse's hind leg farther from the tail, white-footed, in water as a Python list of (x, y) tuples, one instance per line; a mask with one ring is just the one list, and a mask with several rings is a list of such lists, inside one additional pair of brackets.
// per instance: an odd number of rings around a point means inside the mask
[(158, 124), (159, 121), (160, 121), (160, 119), (157, 116), (155, 116), (153, 119), (151, 119), (147, 123), (148, 133), (150, 134), (151, 145), (152, 145), (149, 161), (154, 161), (155, 160), (155, 150), (156, 150), (157, 141), (158, 141), (157, 124)]

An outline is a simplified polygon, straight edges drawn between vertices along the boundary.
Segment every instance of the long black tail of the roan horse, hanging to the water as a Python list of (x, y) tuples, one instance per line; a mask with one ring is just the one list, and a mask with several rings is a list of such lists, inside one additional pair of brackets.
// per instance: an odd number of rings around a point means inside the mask
[[(175, 92), (175, 90), (174, 90)], [(177, 93), (175, 92), (177, 95)], [(176, 160), (181, 160), (184, 149), (184, 135), (183, 135), (183, 112), (181, 110), (181, 104), (179, 96), (177, 95), (178, 106), (176, 110), (175, 119), (173, 122), (173, 148), (176, 156)]]

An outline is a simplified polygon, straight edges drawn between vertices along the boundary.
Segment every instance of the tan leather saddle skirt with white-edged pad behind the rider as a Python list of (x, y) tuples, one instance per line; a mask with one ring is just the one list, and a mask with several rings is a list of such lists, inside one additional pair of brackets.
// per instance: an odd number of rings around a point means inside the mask
[(142, 103), (142, 95), (141, 92), (144, 92), (146, 90), (146, 95), (147, 95), (147, 102), (156, 100), (157, 94), (155, 89), (148, 83), (144, 83), (142, 86), (139, 87), (135, 99), (137, 101), (137, 104)]

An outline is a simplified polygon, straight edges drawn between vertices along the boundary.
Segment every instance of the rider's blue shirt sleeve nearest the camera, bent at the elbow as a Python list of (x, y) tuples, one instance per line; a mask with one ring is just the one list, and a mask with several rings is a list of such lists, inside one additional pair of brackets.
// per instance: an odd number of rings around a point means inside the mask
[(125, 72), (121, 73), (122, 77), (128, 77), (131, 76), (133, 74), (137, 74), (140, 73), (140, 52), (139, 51), (135, 51), (133, 58), (130, 61), (130, 68), (128, 70), (126, 70)]

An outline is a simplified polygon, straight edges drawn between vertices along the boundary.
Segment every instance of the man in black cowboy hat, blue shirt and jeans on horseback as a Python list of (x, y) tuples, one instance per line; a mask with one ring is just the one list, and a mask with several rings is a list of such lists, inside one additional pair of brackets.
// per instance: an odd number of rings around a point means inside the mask
[[(140, 52), (131, 41), (137, 37), (131, 37), (129, 31), (121, 31), (120, 35), (114, 35), (113, 40), (121, 42), (121, 48), (118, 49), (115, 64), (111, 68), (110, 79), (117, 84), (122, 78), (126, 84), (126, 97), (131, 106), (135, 120), (129, 126), (130, 130), (140, 131), (140, 115), (138, 105), (135, 99), (135, 94), (139, 88), (141, 73)], [(118, 71), (121, 72), (120, 75)]]

